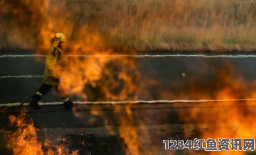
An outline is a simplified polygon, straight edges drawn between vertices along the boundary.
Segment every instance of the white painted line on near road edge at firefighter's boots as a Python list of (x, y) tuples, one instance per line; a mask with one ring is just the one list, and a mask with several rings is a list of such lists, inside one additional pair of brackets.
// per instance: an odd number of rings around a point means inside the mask
[[(155, 104), (155, 103), (205, 103), (205, 102), (238, 102), (238, 101), (256, 101), (256, 98), (248, 99), (216, 99), (216, 100), (137, 100), (137, 101), (74, 101), (75, 104)], [(5, 103), (0, 104), (0, 107), (14, 107), (21, 103)], [(59, 105), (63, 102), (45, 102), (38, 103), (39, 105)], [(24, 103), (23, 106), (27, 106), (29, 103)]]

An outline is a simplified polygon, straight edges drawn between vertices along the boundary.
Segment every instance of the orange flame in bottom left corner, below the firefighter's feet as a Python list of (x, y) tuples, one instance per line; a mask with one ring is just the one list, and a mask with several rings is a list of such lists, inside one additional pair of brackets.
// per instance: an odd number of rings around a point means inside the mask
[[(46, 152), (42, 149), (42, 143), (37, 139), (36, 129), (32, 120), (26, 120), (26, 109), (22, 109), (18, 117), (9, 116), (10, 125), (13, 131), (6, 131), (6, 148), (13, 152), (13, 155), (63, 155), (68, 153), (65, 146), (55, 146), (47, 139), (44, 146), (49, 148)], [(51, 148), (55, 147), (57, 152)], [(72, 155), (77, 155), (78, 150), (73, 151)], [(68, 153), (69, 154), (69, 153)]]

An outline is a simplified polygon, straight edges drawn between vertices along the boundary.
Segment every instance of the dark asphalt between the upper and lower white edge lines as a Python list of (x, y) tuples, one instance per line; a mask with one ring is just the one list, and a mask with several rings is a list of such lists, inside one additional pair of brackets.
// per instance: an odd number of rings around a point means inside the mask
[[(32, 54), (29, 51), (1, 51), (4, 54)], [(155, 54), (155, 53), (153, 53)], [(158, 52), (157, 54), (166, 54)], [(167, 53), (168, 54), (168, 53)], [(170, 53), (169, 53), (170, 54)], [(175, 53), (171, 53), (175, 54)], [(178, 53), (182, 54), (182, 53)], [(188, 53), (186, 53), (188, 54)], [(198, 53), (189, 53), (198, 54)], [(206, 55), (214, 55), (208, 54)], [(251, 85), (256, 79), (256, 57), (248, 58), (203, 58), (203, 57), (146, 57), (136, 58), (141, 81), (157, 79), (157, 84), (148, 85), (142, 91), (139, 99), (173, 99), (172, 96), (163, 96), (164, 91), (182, 97), (191, 97), (191, 94), (203, 92), (212, 95), (224, 86), (223, 76), (237, 80), (243, 79), (243, 85)], [(0, 77), (35, 75), (44, 73), (44, 58), (35, 57), (6, 57), (0, 58)], [(90, 67), (90, 66), (88, 66)], [(186, 76), (182, 76), (186, 73)], [(219, 76), (221, 75), (221, 77)], [(191, 83), (193, 82), (193, 88)], [(216, 83), (223, 82), (217, 86)], [(22, 102), (26, 100), (42, 84), (42, 78), (0, 78), (0, 104)], [(214, 86), (215, 85), (215, 86)], [(150, 95), (144, 95), (150, 94)], [(178, 95), (179, 94), (179, 95)], [(162, 96), (161, 96), (162, 95)], [(184, 99), (184, 98), (179, 98)], [(76, 100), (74, 98), (74, 100)], [(47, 94), (42, 101), (61, 101), (55, 93)]]

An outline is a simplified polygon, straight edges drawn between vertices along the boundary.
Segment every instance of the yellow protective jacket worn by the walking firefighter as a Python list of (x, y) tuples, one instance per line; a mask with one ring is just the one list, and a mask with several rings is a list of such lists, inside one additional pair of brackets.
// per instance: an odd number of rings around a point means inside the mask
[(63, 71), (63, 51), (57, 47), (57, 42), (51, 44), (50, 51), (45, 58), (45, 84), (56, 86)]

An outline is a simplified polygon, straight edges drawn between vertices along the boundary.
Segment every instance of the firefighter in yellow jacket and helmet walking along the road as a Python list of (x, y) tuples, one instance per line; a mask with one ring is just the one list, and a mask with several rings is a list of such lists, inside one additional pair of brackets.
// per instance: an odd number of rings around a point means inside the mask
[(62, 33), (56, 33), (55, 38), (52, 39), (50, 50), (45, 59), (45, 73), (44, 73), (44, 83), (38, 89), (38, 91), (32, 96), (32, 100), (29, 103), (29, 106), (40, 109), (41, 107), (38, 105), (38, 101), (50, 91), (52, 87), (54, 87), (61, 99), (64, 102), (64, 106), (66, 109), (70, 109), (73, 106), (72, 101), (70, 101), (70, 97), (61, 88), (60, 76), (61, 71), (63, 70), (63, 45), (66, 41), (66, 36)]

